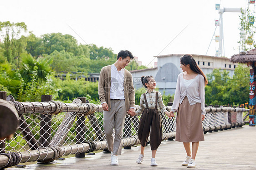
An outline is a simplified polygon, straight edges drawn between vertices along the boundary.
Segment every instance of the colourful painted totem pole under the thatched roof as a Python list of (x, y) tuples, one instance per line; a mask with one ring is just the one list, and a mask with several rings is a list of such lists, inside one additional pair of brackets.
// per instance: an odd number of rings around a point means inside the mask
[(255, 64), (256, 62), (250, 63), (252, 68), (250, 69), (250, 92), (249, 92), (249, 109), (250, 109), (250, 114), (249, 114), (249, 126), (255, 126), (256, 125), (256, 112), (255, 112), (255, 107), (256, 107), (256, 67)]

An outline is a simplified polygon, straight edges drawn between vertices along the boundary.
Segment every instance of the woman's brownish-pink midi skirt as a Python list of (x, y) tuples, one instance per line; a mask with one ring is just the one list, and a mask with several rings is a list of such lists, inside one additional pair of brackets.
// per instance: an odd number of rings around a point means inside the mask
[(197, 142), (205, 141), (201, 103), (190, 106), (188, 98), (185, 97), (177, 113), (175, 141)]

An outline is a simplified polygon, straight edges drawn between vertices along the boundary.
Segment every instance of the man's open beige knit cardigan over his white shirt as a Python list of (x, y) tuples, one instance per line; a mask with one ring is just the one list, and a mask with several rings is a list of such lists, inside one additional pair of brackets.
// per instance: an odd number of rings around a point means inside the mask
[[(111, 85), (111, 66), (108, 65), (101, 69), (99, 77), (98, 93), (100, 102), (107, 102), (108, 109), (111, 110), (110, 104), (110, 85)], [(124, 100), (126, 111), (130, 107), (135, 107), (135, 92), (133, 87), (133, 76), (127, 69), (124, 68), (123, 80)]]

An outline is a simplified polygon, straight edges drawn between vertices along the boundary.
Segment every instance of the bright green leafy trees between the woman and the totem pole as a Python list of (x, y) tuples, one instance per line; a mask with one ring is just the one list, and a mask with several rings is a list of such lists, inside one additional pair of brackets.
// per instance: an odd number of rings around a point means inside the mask
[(207, 74), (209, 84), (205, 87), (205, 103), (237, 105), (249, 100), (250, 70), (244, 65), (236, 67), (232, 78), (226, 70), (214, 69)]

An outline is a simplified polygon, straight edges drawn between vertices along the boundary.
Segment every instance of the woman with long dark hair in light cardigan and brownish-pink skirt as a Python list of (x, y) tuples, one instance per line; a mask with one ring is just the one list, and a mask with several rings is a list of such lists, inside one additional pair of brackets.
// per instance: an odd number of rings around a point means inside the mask
[[(205, 74), (190, 54), (180, 58), (183, 73), (178, 75), (171, 113), (177, 112), (176, 139), (183, 142), (187, 157), (182, 165), (195, 168), (199, 141), (204, 141), (202, 121), (205, 119)], [(192, 155), (190, 143), (192, 142)]]

